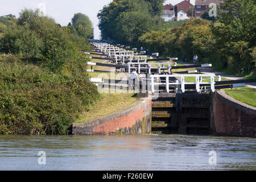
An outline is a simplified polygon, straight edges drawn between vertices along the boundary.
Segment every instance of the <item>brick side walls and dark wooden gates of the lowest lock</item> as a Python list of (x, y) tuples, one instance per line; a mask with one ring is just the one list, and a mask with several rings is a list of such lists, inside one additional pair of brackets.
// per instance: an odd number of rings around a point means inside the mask
[(146, 95), (129, 109), (85, 123), (73, 123), (72, 134), (255, 137), (256, 108), (234, 100), (221, 90)]

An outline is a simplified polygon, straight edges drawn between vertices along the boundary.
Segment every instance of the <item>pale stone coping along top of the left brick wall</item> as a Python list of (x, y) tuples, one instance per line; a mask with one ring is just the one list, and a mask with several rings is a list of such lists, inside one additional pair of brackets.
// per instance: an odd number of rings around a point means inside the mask
[(141, 98), (141, 100), (134, 102), (129, 106), (129, 108), (121, 109), (116, 111), (115, 113), (106, 115), (101, 118), (93, 119), (92, 121), (84, 122), (84, 123), (73, 123), (73, 127), (90, 127), (100, 125), (101, 123), (111, 121), (116, 118), (121, 118), (125, 115), (131, 114), (136, 110), (142, 109), (143, 107), (148, 105), (148, 98)]

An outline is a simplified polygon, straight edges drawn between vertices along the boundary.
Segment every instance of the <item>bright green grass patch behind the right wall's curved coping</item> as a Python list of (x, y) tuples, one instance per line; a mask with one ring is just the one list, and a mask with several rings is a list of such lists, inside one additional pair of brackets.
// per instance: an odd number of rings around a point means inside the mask
[(245, 104), (256, 107), (256, 90), (247, 86), (243, 88), (225, 89), (225, 93)]

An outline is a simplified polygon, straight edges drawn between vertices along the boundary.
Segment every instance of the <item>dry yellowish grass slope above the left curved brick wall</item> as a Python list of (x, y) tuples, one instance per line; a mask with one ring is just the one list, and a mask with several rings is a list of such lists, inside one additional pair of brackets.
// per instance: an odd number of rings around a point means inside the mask
[(134, 93), (101, 94), (100, 100), (97, 101), (96, 104), (89, 109), (89, 111), (82, 113), (80, 118), (75, 122), (88, 122), (117, 111), (128, 109), (131, 104), (138, 100), (139, 98), (135, 97)]

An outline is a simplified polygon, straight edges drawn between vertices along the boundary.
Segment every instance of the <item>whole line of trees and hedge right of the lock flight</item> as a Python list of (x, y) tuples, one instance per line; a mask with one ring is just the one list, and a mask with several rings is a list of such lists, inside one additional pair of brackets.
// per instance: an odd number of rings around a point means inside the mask
[[(217, 18), (163, 22), (163, 1), (114, 0), (98, 18), (103, 39), (130, 46), (146, 47), (162, 56), (177, 56), (239, 75), (255, 73), (256, 5), (254, 0), (224, 0)], [(221, 13), (220, 13), (221, 11)], [(210, 19), (210, 20), (207, 20)], [(213, 23), (218, 20), (219, 23)]]

